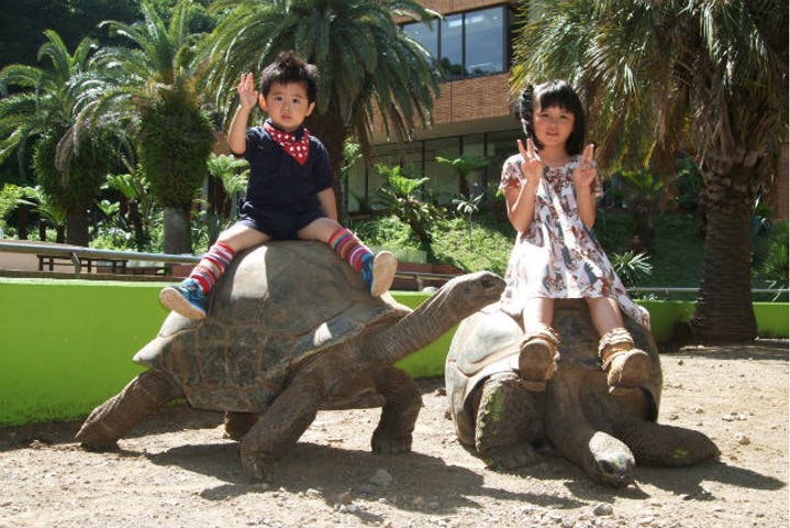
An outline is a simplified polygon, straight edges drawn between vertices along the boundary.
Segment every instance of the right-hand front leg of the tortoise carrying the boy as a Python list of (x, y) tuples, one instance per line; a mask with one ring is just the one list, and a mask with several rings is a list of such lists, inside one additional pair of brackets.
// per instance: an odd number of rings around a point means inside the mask
[(420, 387), (409, 374), (396, 367), (382, 369), (377, 373), (375, 383), (386, 403), (370, 440), (374, 453), (411, 451), (412, 432), (422, 407)]

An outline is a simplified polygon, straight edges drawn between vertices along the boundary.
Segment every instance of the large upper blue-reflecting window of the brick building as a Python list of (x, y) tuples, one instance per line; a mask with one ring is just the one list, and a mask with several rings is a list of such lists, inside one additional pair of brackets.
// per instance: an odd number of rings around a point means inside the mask
[(438, 24), (411, 22), (403, 31), (437, 59), (445, 80), (502, 74), (509, 64), (507, 6), (447, 14)]

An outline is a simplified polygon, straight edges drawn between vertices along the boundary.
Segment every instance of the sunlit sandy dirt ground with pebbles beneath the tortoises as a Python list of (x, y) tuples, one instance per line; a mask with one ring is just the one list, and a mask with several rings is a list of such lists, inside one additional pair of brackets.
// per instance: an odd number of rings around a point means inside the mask
[(421, 380), (413, 452), (370, 453), (378, 411), (322, 411), (271, 484), (245, 476), (221, 416), (169, 406), (120, 450), (79, 424), (0, 428), (0, 527), (787, 527), (788, 344), (664, 351), (659, 422), (703, 431), (720, 461), (593, 484), (563, 459), (497, 473), (457, 442), (439, 378)]

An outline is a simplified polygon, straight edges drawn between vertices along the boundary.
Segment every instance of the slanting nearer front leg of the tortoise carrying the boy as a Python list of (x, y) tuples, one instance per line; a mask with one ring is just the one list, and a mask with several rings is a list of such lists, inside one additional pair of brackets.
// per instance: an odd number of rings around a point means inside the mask
[(242, 466), (249, 476), (271, 479), (271, 465), (313, 422), (322, 397), (323, 386), (310, 375), (297, 376), (280, 393), (240, 444)]

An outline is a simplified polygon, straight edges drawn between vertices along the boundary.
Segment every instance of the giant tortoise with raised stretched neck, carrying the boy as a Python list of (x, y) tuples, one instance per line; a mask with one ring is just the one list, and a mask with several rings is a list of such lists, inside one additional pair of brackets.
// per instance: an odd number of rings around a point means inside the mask
[(493, 301), (504, 282), (488, 272), (449, 280), (412, 311), (374, 298), (325, 244), (275, 242), (240, 253), (212, 292), (208, 317), (171, 312), (134, 355), (149, 366), (100, 405), (77, 432), (112, 449), (151, 410), (178, 397), (226, 413), (242, 465), (269, 479), (319, 409), (382, 407), (371, 447), (411, 450), (422, 405), (414, 381), (392, 364)]

